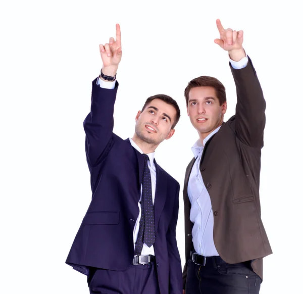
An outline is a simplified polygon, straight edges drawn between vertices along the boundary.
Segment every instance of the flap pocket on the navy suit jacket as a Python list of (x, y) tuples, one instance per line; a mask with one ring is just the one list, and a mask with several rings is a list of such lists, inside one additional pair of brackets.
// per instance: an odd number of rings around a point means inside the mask
[(118, 211), (93, 211), (87, 212), (82, 225), (117, 225), (120, 213)]

